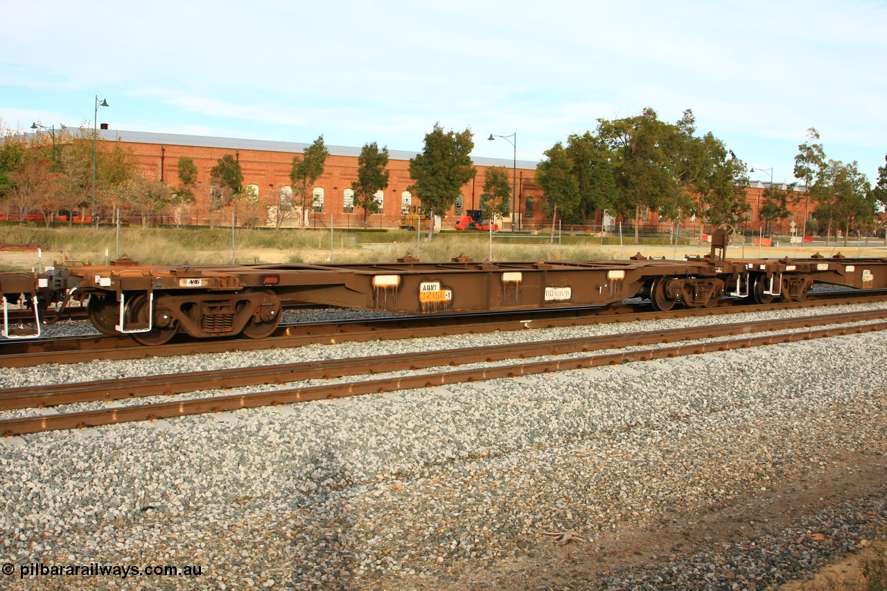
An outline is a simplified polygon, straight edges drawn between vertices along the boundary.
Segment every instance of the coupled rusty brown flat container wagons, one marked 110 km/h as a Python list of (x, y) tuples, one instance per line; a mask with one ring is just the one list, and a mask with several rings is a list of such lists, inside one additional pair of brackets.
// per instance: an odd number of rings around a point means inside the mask
[[(40, 334), (50, 303), (87, 302), (103, 333), (138, 343), (166, 343), (179, 331), (197, 338), (263, 338), (278, 327), (280, 301), (296, 300), (407, 314), (602, 306), (648, 298), (656, 310), (710, 307), (723, 296), (770, 303), (801, 300), (815, 282), (887, 288), (887, 259), (779, 260), (725, 258), (716, 232), (710, 255), (683, 261), (632, 256), (627, 261), (475, 263), (464, 257), (428, 264), (406, 257), (390, 264), (260, 264), (50, 267), (0, 273), (3, 336)], [(35, 312), (33, 325), (11, 327), (8, 304)]]

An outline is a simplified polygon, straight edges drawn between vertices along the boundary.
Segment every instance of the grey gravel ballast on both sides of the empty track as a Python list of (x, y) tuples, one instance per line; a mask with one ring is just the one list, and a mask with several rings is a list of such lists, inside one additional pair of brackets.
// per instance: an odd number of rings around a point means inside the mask
[[(463, 335), (387, 342), (384, 352), (653, 328)], [(3, 368), (0, 384), (370, 351), (381, 352), (380, 343)], [(883, 453), (885, 384), (887, 335), (875, 333), (17, 437), (0, 448), (2, 554), (15, 568), (0, 580), (63, 588), (71, 579), (19, 581), (19, 568), (160, 563), (201, 565), (201, 574), (79, 577), (77, 584), (445, 588), (467, 570), (492, 571), (506, 558), (533, 556), (553, 543), (543, 532), (576, 532), (586, 541), (570, 548), (590, 553), (605, 534), (724, 506), (820, 469), (836, 453)], [(843, 532), (836, 543), (851, 548), (887, 521), (883, 499), (867, 502), (809, 519), (830, 520)], [(778, 548), (778, 539), (760, 543)], [(735, 579), (738, 568), (750, 581), (743, 587), (765, 588), (828, 557), (815, 546), (797, 556), (752, 556), (739, 541), (667, 557), (658, 571), (611, 572), (574, 588), (659, 588), (663, 573), (675, 588), (714, 588), (725, 573)]]

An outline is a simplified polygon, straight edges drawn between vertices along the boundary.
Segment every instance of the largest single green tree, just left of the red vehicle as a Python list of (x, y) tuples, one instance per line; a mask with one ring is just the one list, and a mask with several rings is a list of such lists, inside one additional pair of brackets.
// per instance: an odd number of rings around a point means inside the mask
[(425, 134), (422, 154), (410, 159), (410, 178), (415, 183), (408, 191), (431, 212), (429, 240), (434, 232), (434, 216), (443, 219), (461, 195), (462, 187), (477, 173), (468, 155), (473, 149), (475, 141), (471, 130), (444, 132), (440, 123), (435, 123), (434, 130)]

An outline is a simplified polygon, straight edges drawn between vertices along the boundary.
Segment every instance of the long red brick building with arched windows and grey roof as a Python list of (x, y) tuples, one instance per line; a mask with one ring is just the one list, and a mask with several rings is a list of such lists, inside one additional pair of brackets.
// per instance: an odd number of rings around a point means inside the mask
[[(169, 185), (178, 183), (178, 160), (187, 156), (198, 169), (196, 201), (184, 211), (185, 224), (204, 223), (209, 210), (210, 181), (209, 171), (225, 154), (231, 154), (239, 162), (243, 172), (244, 185), (251, 186), (261, 201), (273, 203), (279, 199), (281, 191), (291, 191), (289, 174), (293, 158), (302, 155), (308, 144), (261, 141), (235, 138), (208, 138), (144, 131), (101, 130), (100, 138), (119, 142), (122, 148), (134, 154), (142, 169)], [(304, 212), (308, 224), (328, 223), (330, 217), (336, 226), (360, 227), (364, 221), (364, 211), (353, 205), (351, 183), (357, 180), (357, 157), (359, 147), (326, 146), (329, 156), (324, 166), (324, 174), (318, 179), (313, 190), (313, 210)], [(406, 205), (418, 205), (420, 201), (407, 187), (412, 185), (409, 173), (410, 159), (416, 154), (389, 150), (389, 186), (381, 195), (381, 213), (369, 216), (371, 227), (394, 227)], [(516, 177), (515, 225), (530, 229), (545, 224), (542, 208), (542, 190), (536, 185), (537, 162), (474, 158), (477, 175), (462, 187), (462, 197), (443, 221), (444, 227), (452, 224), (454, 216), (462, 215), (465, 209), (479, 209), (480, 195), (486, 169), (500, 166), (508, 169), (509, 177)], [(298, 201), (298, 200), (296, 200)], [(299, 217), (288, 219), (286, 225), (301, 225)], [(511, 218), (502, 220), (504, 227), (510, 227)]]

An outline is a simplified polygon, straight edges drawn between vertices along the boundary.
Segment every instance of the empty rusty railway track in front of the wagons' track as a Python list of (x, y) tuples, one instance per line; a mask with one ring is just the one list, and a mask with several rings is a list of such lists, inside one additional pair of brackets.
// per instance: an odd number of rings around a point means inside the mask
[[(0, 421), (0, 434), (22, 435), (55, 429), (85, 428), (120, 422), (152, 421), (189, 414), (216, 413), (257, 406), (277, 406), (322, 398), (343, 398), (391, 390), (406, 390), (458, 382), (474, 382), (516, 375), (541, 374), (565, 369), (614, 365), (631, 361), (674, 358), (708, 351), (727, 351), (773, 343), (789, 343), (834, 335), (857, 334), (887, 329), (887, 311), (850, 312), (812, 317), (761, 320), (727, 325), (690, 327), (668, 332), (650, 331), (627, 335), (606, 335), (540, 343), (518, 343), (484, 346), (449, 351), (428, 351), (401, 355), (376, 356), (364, 359), (345, 359), (326, 362), (298, 363), (287, 366), (247, 367), (224, 372), (200, 372), (180, 375), (161, 375), (151, 378), (82, 382), (49, 387), (9, 389), (0, 396), (0, 409), (62, 406), (96, 400), (119, 400), (157, 395), (173, 395), (193, 390), (228, 389), (238, 386), (298, 382), (311, 379), (341, 378), (373, 373), (409, 371), (407, 375), (391, 375), (370, 380), (327, 382), (281, 390), (216, 397), (199, 397), (164, 401), (153, 404), (134, 404), (85, 411), (70, 411), (39, 416), (10, 418)], [(848, 324), (868, 322), (869, 324)], [(844, 325), (844, 326), (834, 326)], [(813, 328), (829, 326), (828, 328)], [(798, 331), (798, 328), (805, 330)], [(775, 335), (755, 333), (783, 331)], [(718, 341), (693, 343), (718, 337)], [(674, 346), (652, 344), (687, 342)], [(602, 351), (605, 349), (642, 346), (636, 351), (616, 351), (595, 355), (580, 355), (563, 359), (562, 356)], [(561, 356), (561, 359), (538, 359)], [(480, 363), (467, 369), (435, 370), (417, 373), (420, 369)], [(498, 364), (498, 365), (491, 365)], [(116, 403), (119, 405), (120, 403)]]

